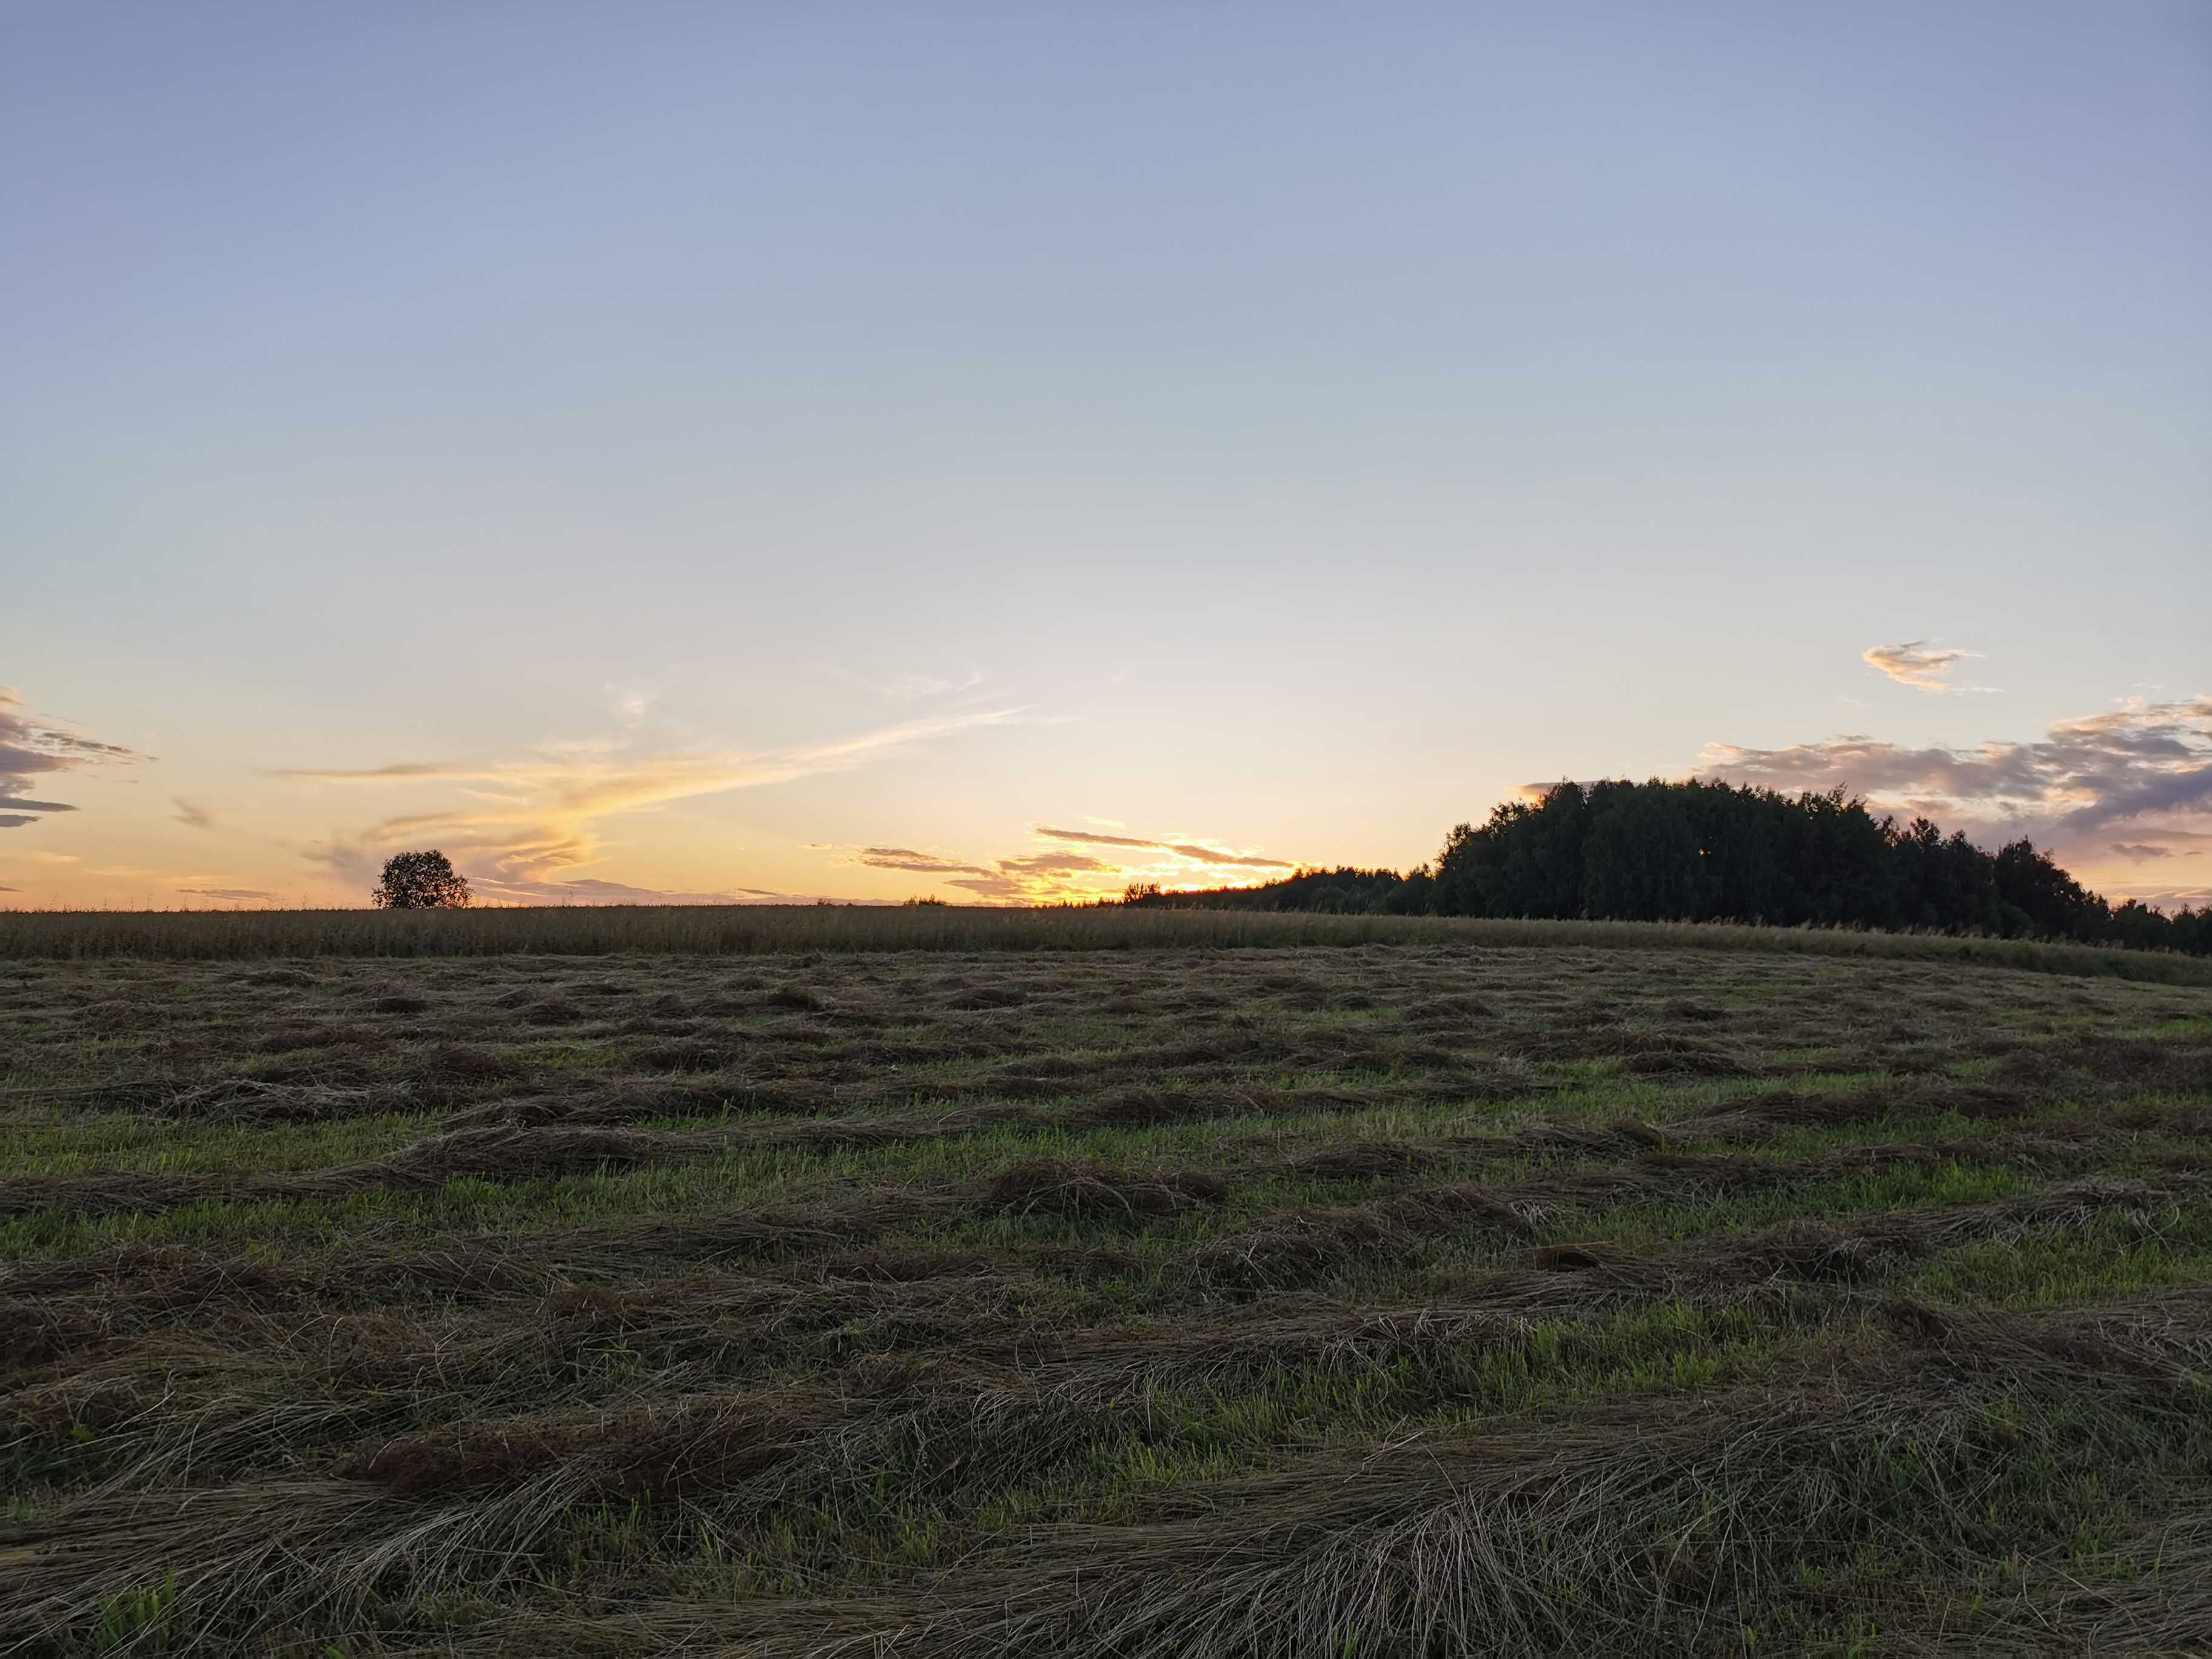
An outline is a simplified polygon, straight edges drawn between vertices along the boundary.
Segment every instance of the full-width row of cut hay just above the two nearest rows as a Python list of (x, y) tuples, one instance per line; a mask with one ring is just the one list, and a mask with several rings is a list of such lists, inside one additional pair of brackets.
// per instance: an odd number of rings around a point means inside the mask
[[(1199, 1312), (1203, 1303), (1170, 1287), (1161, 1301), (1186, 1303), (1188, 1312), (1170, 1316), (1164, 1307), (1144, 1325), (1106, 1327), (1040, 1316), (1053, 1298), (1033, 1274), (973, 1256), (909, 1263), (896, 1281), (695, 1272), (630, 1287), (560, 1285), (458, 1316), (411, 1318), (292, 1301), (208, 1310), (175, 1325), (168, 1310), (139, 1305), (135, 1316), (115, 1316), (95, 1294), (64, 1307), (49, 1290), (49, 1318), (111, 1318), (113, 1334), (58, 1345), (44, 1376), (0, 1394), (0, 1418), (20, 1436), (64, 1449), (77, 1425), (93, 1425), (102, 1491), (150, 1493), (243, 1478), (270, 1462), (296, 1464), (319, 1447), (372, 1433), (440, 1436), (440, 1425), (515, 1413), (535, 1422), (595, 1400), (604, 1409), (606, 1383), (588, 1358), (611, 1343), (633, 1358), (613, 1398), (703, 1396), (805, 1360), (823, 1398), (843, 1400), (845, 1420), (872, 1416), (863, 1400), (889, 1400), (896, 1416), (905, 1407), (891, 1396), (933, 1398), (947, 1387), (1040, 1396), (1057, 1402), (1055, 1411), (1106, 1411), (1159, 1394), (1252, 1387), (1279, 1367), (1389, 1380), (1394, 1365), (1451, 1347), (1524, 1345), (1531, 1321), (1584, 1321), (1632, 1305), (1761, 1305), (1774, 1318), (1818, 1325), (1847, 1312), (1893, 1263), (2108, 1217), (2154, 1230), (2181, 1192), (2077, 1183), (1639, 1252), (1540, 1250), (1533, 1265), (1464, 1276), (1449, 1301), (1431, 1307), (1279, 1296)], [(1449, 1206), (1396, 1217), (1374, 1210), (1367, 1225), (1383, 1250), (1398, 1241), (1385, 1225), (1411, 1237), (1422, 1221), (1449, 1214)], [(920, 1279), (911, 1272), (918, 1265), (940, 1276)], [(1807, 1301), (1807, 1292), (1818, 1294)]]

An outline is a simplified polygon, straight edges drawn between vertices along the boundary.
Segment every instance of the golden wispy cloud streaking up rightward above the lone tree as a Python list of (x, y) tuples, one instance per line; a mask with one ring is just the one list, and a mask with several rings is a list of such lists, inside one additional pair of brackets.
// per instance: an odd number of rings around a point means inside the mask
[(524, 891), (540, 885), (564, 889), (575, 883), (573, 872), (599, 860), (595, 825), (602, 818), (843, 772), (916, 743), (1006, 726), (1020, 714), (1015, 708), (995, 708), (911, 719), (783, 750), (655, 754), (617, 743), (553, 743), (513, 761), (290, 768), (276, 776), (345, 787), (456, 785), (465, 796), (458, 805), (394, 814), (303, 849), (303, 856), (349, 883), (369, 876), (383, 849), (436, 843), (447, 852), (476, 854), (465, 865), (471, 880), (498, 880)]

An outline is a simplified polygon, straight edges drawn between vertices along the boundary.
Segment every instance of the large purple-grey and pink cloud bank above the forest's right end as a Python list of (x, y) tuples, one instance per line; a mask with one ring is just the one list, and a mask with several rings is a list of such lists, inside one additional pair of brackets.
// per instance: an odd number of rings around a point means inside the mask
[(2042, 739), (1907, 748), (1865, 734), (1781, 750), (1708, 745), (1697, 772), (1776, 790), (1843, 785), (2077, 858), (2159, 858), (2212, 838), (2212, 697), (2055, 723)]

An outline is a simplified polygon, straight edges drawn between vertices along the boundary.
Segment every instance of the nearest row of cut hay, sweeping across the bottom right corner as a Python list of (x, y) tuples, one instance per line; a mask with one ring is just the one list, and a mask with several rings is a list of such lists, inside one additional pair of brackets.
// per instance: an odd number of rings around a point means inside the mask
[[(1911, 1646), (1986, 1635), (2048, 1650), (2097, 1632), (2115, 1650), (2194, 1650), (2205, 1626), (2188, 1610), (2212, 1604), (2212, 1551), (2188, 1531), (2208, 1312), (2201, 1294), (2037, 1318), (1907, 1305), (1887, 1340), (1867, 1332), (1794, 1378), (1321, 1458), (1166, 1495), (1152, 1524), (1029, 1528), (905, 1595), (518, 1621), (462, 1652), (557, 1637), (573, 1652), (728, 1659), (1688, 1655), (1741, 1646), (1756, 1608), (1818, 1619), (1823, 1577), (1869, 1557), (1905, 1582), (1980, 1571), (2044, 1601), (1991, 1610), (1984, 1632), (1911, 1588), (1863, 1608)], [(2137, 1542), (2199, 1544), (2170, 1568), (2161, 1553), (2148, 1584), (2084, 1593), (2075, 1540), (2024, 1537), (1995, 1502), (2031, 1460), (2135, 1480)], [(2081, 1624), (2055, 1630), (2053, 1610)]]

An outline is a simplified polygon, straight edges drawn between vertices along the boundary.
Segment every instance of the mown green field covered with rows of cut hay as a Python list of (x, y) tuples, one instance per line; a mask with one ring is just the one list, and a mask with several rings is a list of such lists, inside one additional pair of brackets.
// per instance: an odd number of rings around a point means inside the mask
[(2212, 995), (0, 969), (0, 1650), (2212, 1644)]

